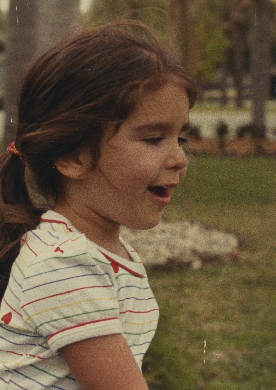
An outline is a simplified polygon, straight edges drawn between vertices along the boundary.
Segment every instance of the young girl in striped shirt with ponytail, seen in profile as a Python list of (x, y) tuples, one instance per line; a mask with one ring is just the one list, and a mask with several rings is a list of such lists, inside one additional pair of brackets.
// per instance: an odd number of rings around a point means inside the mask
[(33, 64), (0, 160), (1, 389), (148, 388), (158, 306), (119, 228), (160, 221), (186, 173), (195, 96), (135, 23), (81, 32)]

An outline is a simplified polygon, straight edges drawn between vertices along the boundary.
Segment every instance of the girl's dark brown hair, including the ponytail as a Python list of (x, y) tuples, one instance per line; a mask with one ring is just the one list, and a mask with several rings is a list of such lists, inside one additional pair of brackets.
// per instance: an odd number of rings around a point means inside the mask
[(105, 126), (113, 122), (119, 128), (139, 92), (157, 88), (170, 76), (182, 81), (192, 107), (195, 83), (161, 49), (150, 30), (136, 22), (79, 32), (34, 62), (19, 96), (15, 137), (25, 166), (9, 153), (0, 157), (2, 292), (22, 235), (38, 225), (44, 211), (29, 197), (25, 167), (37, 192), (54, 202), (62, 190), (55, 161), (91, 145), (95, 166)]

